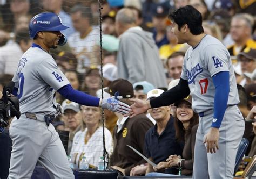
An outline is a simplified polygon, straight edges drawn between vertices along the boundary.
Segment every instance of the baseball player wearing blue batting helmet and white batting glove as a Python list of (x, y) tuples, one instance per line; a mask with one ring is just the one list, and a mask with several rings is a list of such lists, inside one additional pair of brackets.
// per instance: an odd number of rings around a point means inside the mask
[(30, 178), (37, 161), (49, 171), (51, 178), (74, 178), (58, 133), (51, 121), (62, 113), (55, 91), (65, 98), (87, 106), (99, 106), (127, 113), (129, 106), (116, 98), (100, 99), (73, 89), (49, 54), (66, 41), (65, 30), (55, 13), (40, 13), (29, 24), (32, 47), (19, 60), (12, 79), (20, 104), (21, 117), (10, 125), (13, 141), (9, 178)]

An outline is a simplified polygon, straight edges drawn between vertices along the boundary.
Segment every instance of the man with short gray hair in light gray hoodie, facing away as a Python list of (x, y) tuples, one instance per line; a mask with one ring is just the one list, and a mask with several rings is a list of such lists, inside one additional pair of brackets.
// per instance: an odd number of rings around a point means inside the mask
[(128, 8), (118, 11), (115, 23), (117, 34), (121, 35), (117, 54), (118, 77), (131, 83), (147, 81), (157, 88), (167, 87), (153, 34), (137, 26), (134, 11)]

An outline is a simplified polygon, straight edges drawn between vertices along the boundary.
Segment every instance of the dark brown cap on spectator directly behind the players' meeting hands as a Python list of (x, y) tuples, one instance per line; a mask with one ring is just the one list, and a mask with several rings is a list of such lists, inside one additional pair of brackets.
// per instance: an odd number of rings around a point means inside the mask
[(116, 92), (119, 92), (119, 96), (123, 98), (132, 98), (134, 96), (132, 83), (121, 78), (112, 81), (109, 88), (104, 89), (104, 91), (112, 96), (114, 96)]

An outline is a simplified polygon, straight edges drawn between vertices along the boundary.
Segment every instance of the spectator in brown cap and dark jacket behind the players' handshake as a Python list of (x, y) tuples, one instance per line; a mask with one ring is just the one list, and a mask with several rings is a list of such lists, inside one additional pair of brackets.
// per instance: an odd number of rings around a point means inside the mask
[[(134, 92), (132, 84), (129, 81), (123, 79), (114, 80), (105, 91), (109, 92), (112, 96), (116, 92), (119, 92), (118, 96), (123, 97), (119, 100), (131, 105), (128, 99), (134, 96)], [(114, 129), (114, 150), (111, 156), (110, 166), (129, 176), (133, 167), (146, 163), (146, 161), (126, 145), (130, 145), (140, 153), (143, 153), (145, 134), (153, 124), (145, 114), (140, 114), (133, 118), (124, 117), (118, 113), (116, 115), (119, 119)]]

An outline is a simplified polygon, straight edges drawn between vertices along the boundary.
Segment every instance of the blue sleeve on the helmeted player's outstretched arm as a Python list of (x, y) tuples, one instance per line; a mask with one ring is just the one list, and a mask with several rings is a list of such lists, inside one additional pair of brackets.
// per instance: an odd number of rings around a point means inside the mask
[(64, 87), (60, 88), (58, 92), (60, 95), (64, 96), (66, 99), (69, 99), (70, 101), (83, 104), (86, 106), (99, 106), (100, 98), (87, 95), (84, 92), (75, 90), (71, 87), (70, 84), (67, 84)]

